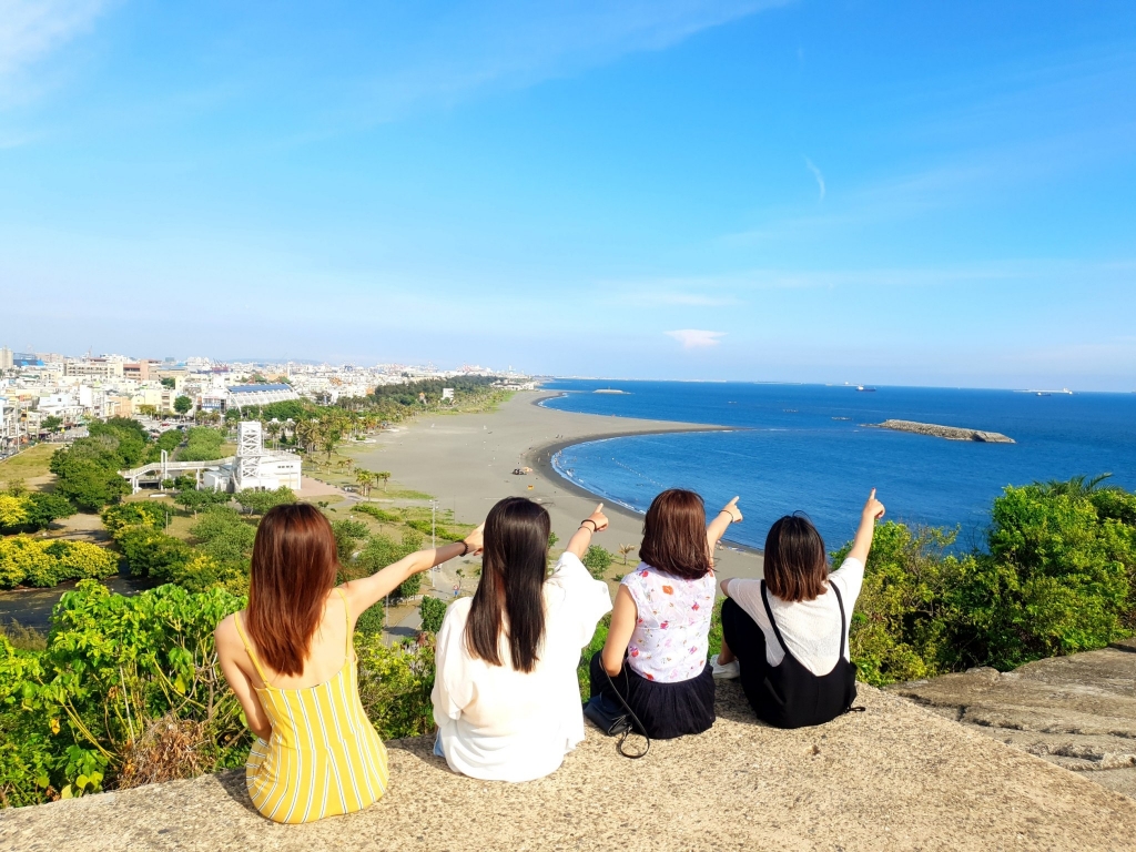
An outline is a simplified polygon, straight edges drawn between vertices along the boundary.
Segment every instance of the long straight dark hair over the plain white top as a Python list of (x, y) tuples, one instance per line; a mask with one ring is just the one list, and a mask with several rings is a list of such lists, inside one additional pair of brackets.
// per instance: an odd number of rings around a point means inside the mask
[(501, 666), (501, 630), (508, 621), (509, 654), (517, 671), (536, 668), (544, 638), (544, 577), (551, 523), (543, 506), (506, 498), (485, 518), (482, 582), (466, 621), (471, 657)]

